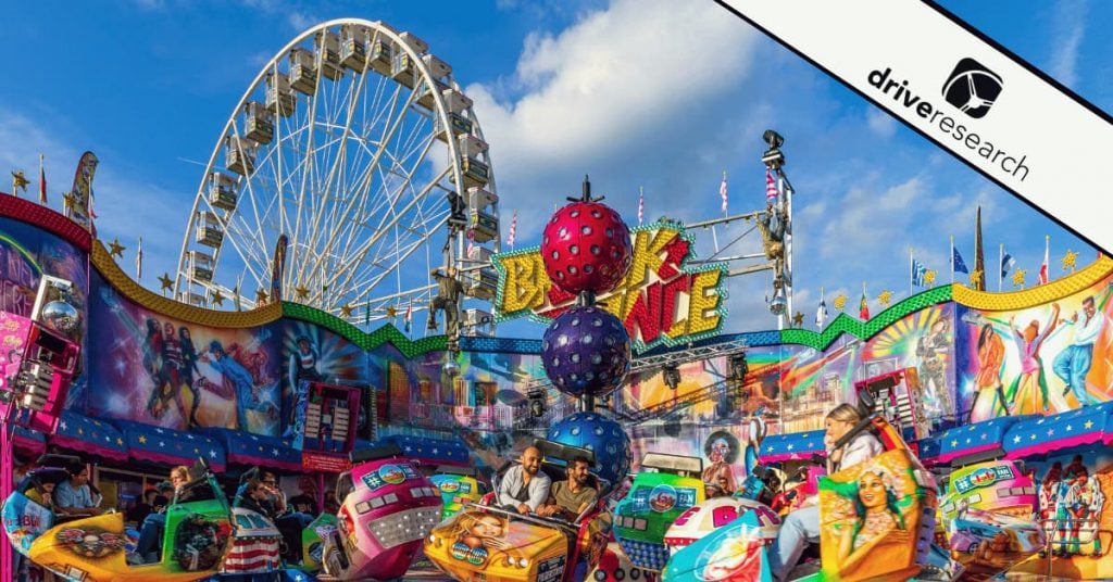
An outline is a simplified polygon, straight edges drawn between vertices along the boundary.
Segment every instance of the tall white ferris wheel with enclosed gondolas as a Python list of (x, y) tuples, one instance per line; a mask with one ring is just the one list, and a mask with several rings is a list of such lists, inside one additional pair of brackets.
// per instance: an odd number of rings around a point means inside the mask
[[(325, 22), (270, 59), (233, 110), (197, 189), (175, 296), (224, 309), (280, 297), (357, 325), (424, 313), (445, 274), (491, 300), (498, 203), (452, 67), (383, 22)], [(462, 313), (465, 328), (491, 320)]]

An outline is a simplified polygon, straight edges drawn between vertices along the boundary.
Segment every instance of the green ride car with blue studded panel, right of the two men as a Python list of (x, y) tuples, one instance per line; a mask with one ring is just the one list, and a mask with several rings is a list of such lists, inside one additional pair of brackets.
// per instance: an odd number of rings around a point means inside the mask
[(659, 572), (669, 559), (664, 534), (689, 507), (706, 499), (698, 457), (646, 453), (641, 472), (614, 507), (614, 539), (630, 562)]

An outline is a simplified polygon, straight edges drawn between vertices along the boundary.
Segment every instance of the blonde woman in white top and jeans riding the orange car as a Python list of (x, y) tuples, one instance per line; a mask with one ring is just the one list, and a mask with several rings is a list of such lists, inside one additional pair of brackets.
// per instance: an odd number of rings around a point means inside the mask
[[(824, 436), (824, 444), (827, 446), (829, 472), (850, 468), (885, 452), (881, 442), (868, 431), (859, 432), (849, 442), (835, 448), (835, 443), (847, 435), (861, 420), (858, 408), (845, 403), (827, 413), (827, 434)], [(777, 540), (769, 551), (769, 565), (774, 578), (785, 580), (796, 568), (809, 543), (819, 543), (819, 506), (816, 504), (789, 513), (781, 523)]]

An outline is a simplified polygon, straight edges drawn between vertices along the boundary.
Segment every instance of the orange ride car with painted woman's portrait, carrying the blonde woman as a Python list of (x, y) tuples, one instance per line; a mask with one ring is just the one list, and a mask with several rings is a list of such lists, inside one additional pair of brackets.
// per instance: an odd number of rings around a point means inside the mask
[[(874, 408), (871, 398), (859, 404)], [(885, 452), (868, 463), (824, 477), (819, 485), (821, 571), (805, 564), (790, 580), (951, 580), (953, 564), (932, 550), (938, 507), (935, 479), (908, 450), (897, 430), (879, 416), (859, 423), (836, 445), (871, 428)], [(867, 487), (884, 487), (878, 497)], [(868, 493), (868, 494), (867, 494)], [(884, 502), (878, 504), (877, 502)], [(865, 507), (884, 520), (859, 544), (866, 529)], [(769, 581), (766, 548), (775, 537), (777, 516), (757, 505), (742, 515), (676, 553), (663, 571), (669, 581)], [(884, 530), (884, 531), (883, 531)], [(863, 535), (865, 537), (865, 535)], [(848, 541), (849, 543), (844, 543)], [(865, 555), (869, 559), (864, 559)]]

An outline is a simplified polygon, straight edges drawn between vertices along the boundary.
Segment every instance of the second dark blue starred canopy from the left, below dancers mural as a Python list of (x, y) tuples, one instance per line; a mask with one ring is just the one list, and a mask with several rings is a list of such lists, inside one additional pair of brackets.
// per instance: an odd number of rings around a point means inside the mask
[(219, 473), (225, 468), (224, 446), (211, 436), (129, 421), (117, 422), (128, 444), (128, 456), (136, 461), (193, 466), (197, 457), (205, 457), (213, 471)]

